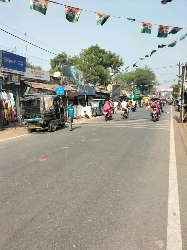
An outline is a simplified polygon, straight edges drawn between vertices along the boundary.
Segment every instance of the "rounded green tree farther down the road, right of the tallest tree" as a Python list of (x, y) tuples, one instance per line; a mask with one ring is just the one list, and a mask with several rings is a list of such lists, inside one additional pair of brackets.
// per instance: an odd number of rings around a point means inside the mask
[(118, 75), (115, 81), (128, 91), (139, 89), (142, 93), (150, 93), (155, 86), (159, 85), (155, 73), (147, 66)]

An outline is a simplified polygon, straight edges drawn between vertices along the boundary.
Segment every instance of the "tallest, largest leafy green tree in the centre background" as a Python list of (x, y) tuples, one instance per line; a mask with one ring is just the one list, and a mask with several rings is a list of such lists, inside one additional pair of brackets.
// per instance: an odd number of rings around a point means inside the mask
[(123, 60), (115, 53), (101, 49), (96, 44), (82, 50), (77, 56), (69, 57), (68, 65), (86, 72), (88, 83), (105, 85), (110, 82), (110, 70), (119, 70)]

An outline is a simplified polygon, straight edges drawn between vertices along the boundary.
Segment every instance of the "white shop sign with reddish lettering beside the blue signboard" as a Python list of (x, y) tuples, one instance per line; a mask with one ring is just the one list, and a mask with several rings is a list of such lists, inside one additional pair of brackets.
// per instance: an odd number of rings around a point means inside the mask
[(26, 68), (24, 77), (26, 79), (42, 80), (42, 81), (47, 81), (47, 82), (50, 81), (49, 72), (30, 69), (30, 68)]

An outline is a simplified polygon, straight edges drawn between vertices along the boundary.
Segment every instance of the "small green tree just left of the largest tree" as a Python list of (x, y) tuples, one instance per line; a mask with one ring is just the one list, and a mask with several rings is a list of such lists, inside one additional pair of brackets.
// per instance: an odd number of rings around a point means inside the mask
[(49, 72), (53, 74), (54, 72), (60, 71), (62, 72), (62, 66), (67, 64), (68, 56), (65, 52), (55, 56), (53, 59), (50, 60), (51, 68)]

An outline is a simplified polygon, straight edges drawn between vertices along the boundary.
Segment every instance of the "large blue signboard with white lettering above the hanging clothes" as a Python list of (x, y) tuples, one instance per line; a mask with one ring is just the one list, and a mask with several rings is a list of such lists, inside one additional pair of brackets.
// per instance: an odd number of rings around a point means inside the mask
[(0, 65), (2, 72), (23, 75), (26, 70), (26, 57), (2, 50), (0, 54)]

